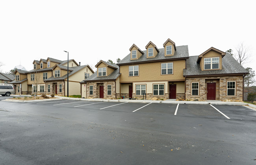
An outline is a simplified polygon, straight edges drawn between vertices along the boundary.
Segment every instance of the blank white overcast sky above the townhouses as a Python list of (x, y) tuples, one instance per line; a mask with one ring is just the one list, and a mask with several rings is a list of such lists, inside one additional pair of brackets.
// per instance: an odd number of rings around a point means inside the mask
[(33, 69), (33, 60), (69, 59), (93, 65), (124, 58), (136, 44), (158, 48), (170, 38), (188, 45), (189, 56), (211, 46), (234, 52), (250, 47), (256, 70), (256, 10), (252, 0), (1, 0), (0, 68)]

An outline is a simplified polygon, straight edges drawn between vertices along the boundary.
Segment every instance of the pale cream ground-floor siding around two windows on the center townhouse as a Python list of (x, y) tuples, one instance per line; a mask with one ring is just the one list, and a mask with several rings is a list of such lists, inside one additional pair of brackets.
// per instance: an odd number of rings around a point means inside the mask
[[(135, 85), (139, 85), (139, 84), (146, 85), (146, 93), (153, 93), (153, 84), (164, 84), (165, 85), (165, 93), (169, 93), (168, 92), (168, 82), (136, 82), (136, 83), (132, 84), (133, 85), (132, 93), (135, 93), (135, 90), (136, 90)], [(129, 85), (128, 85), (128, 93), (129, 93)]]

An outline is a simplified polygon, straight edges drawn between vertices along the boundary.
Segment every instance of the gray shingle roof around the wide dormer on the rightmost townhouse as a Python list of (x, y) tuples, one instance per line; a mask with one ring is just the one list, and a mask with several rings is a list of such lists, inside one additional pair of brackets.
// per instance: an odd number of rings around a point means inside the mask
[(197, 63), (197, 58), (198, 56), (190, 56), (189, 59), (187, 59), (187, 69), (183, 70), (183, 76), (248, 73), (248, 71), (228, 53), (222, 58), (222, 70), (201, 71), (200, 64)]

